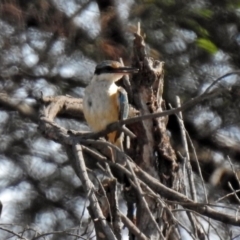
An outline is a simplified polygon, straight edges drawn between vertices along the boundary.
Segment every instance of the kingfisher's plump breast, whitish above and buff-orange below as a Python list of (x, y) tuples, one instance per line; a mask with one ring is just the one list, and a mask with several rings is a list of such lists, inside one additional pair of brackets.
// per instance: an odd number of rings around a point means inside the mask
[(83, 98), (83, 112), (93, 131), (100, 131), (119, 119), (118, 87), (104, 82), (90, 84)]

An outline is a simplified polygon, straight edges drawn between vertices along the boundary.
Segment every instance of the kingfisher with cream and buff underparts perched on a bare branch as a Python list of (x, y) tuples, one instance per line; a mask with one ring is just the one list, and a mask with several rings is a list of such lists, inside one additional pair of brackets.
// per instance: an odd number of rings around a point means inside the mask
[[(117, 61), (103, 61), (96, 66), (83, 97), (83, 113), (94, 132), (104, 130), (110, 123), (128, 117), (127, 92), (115, 82), (125, 74), (137, 72), (138, 69), (122, 66)], [(123, 150), (121, 133), (109, 133), (107, 139)]]

